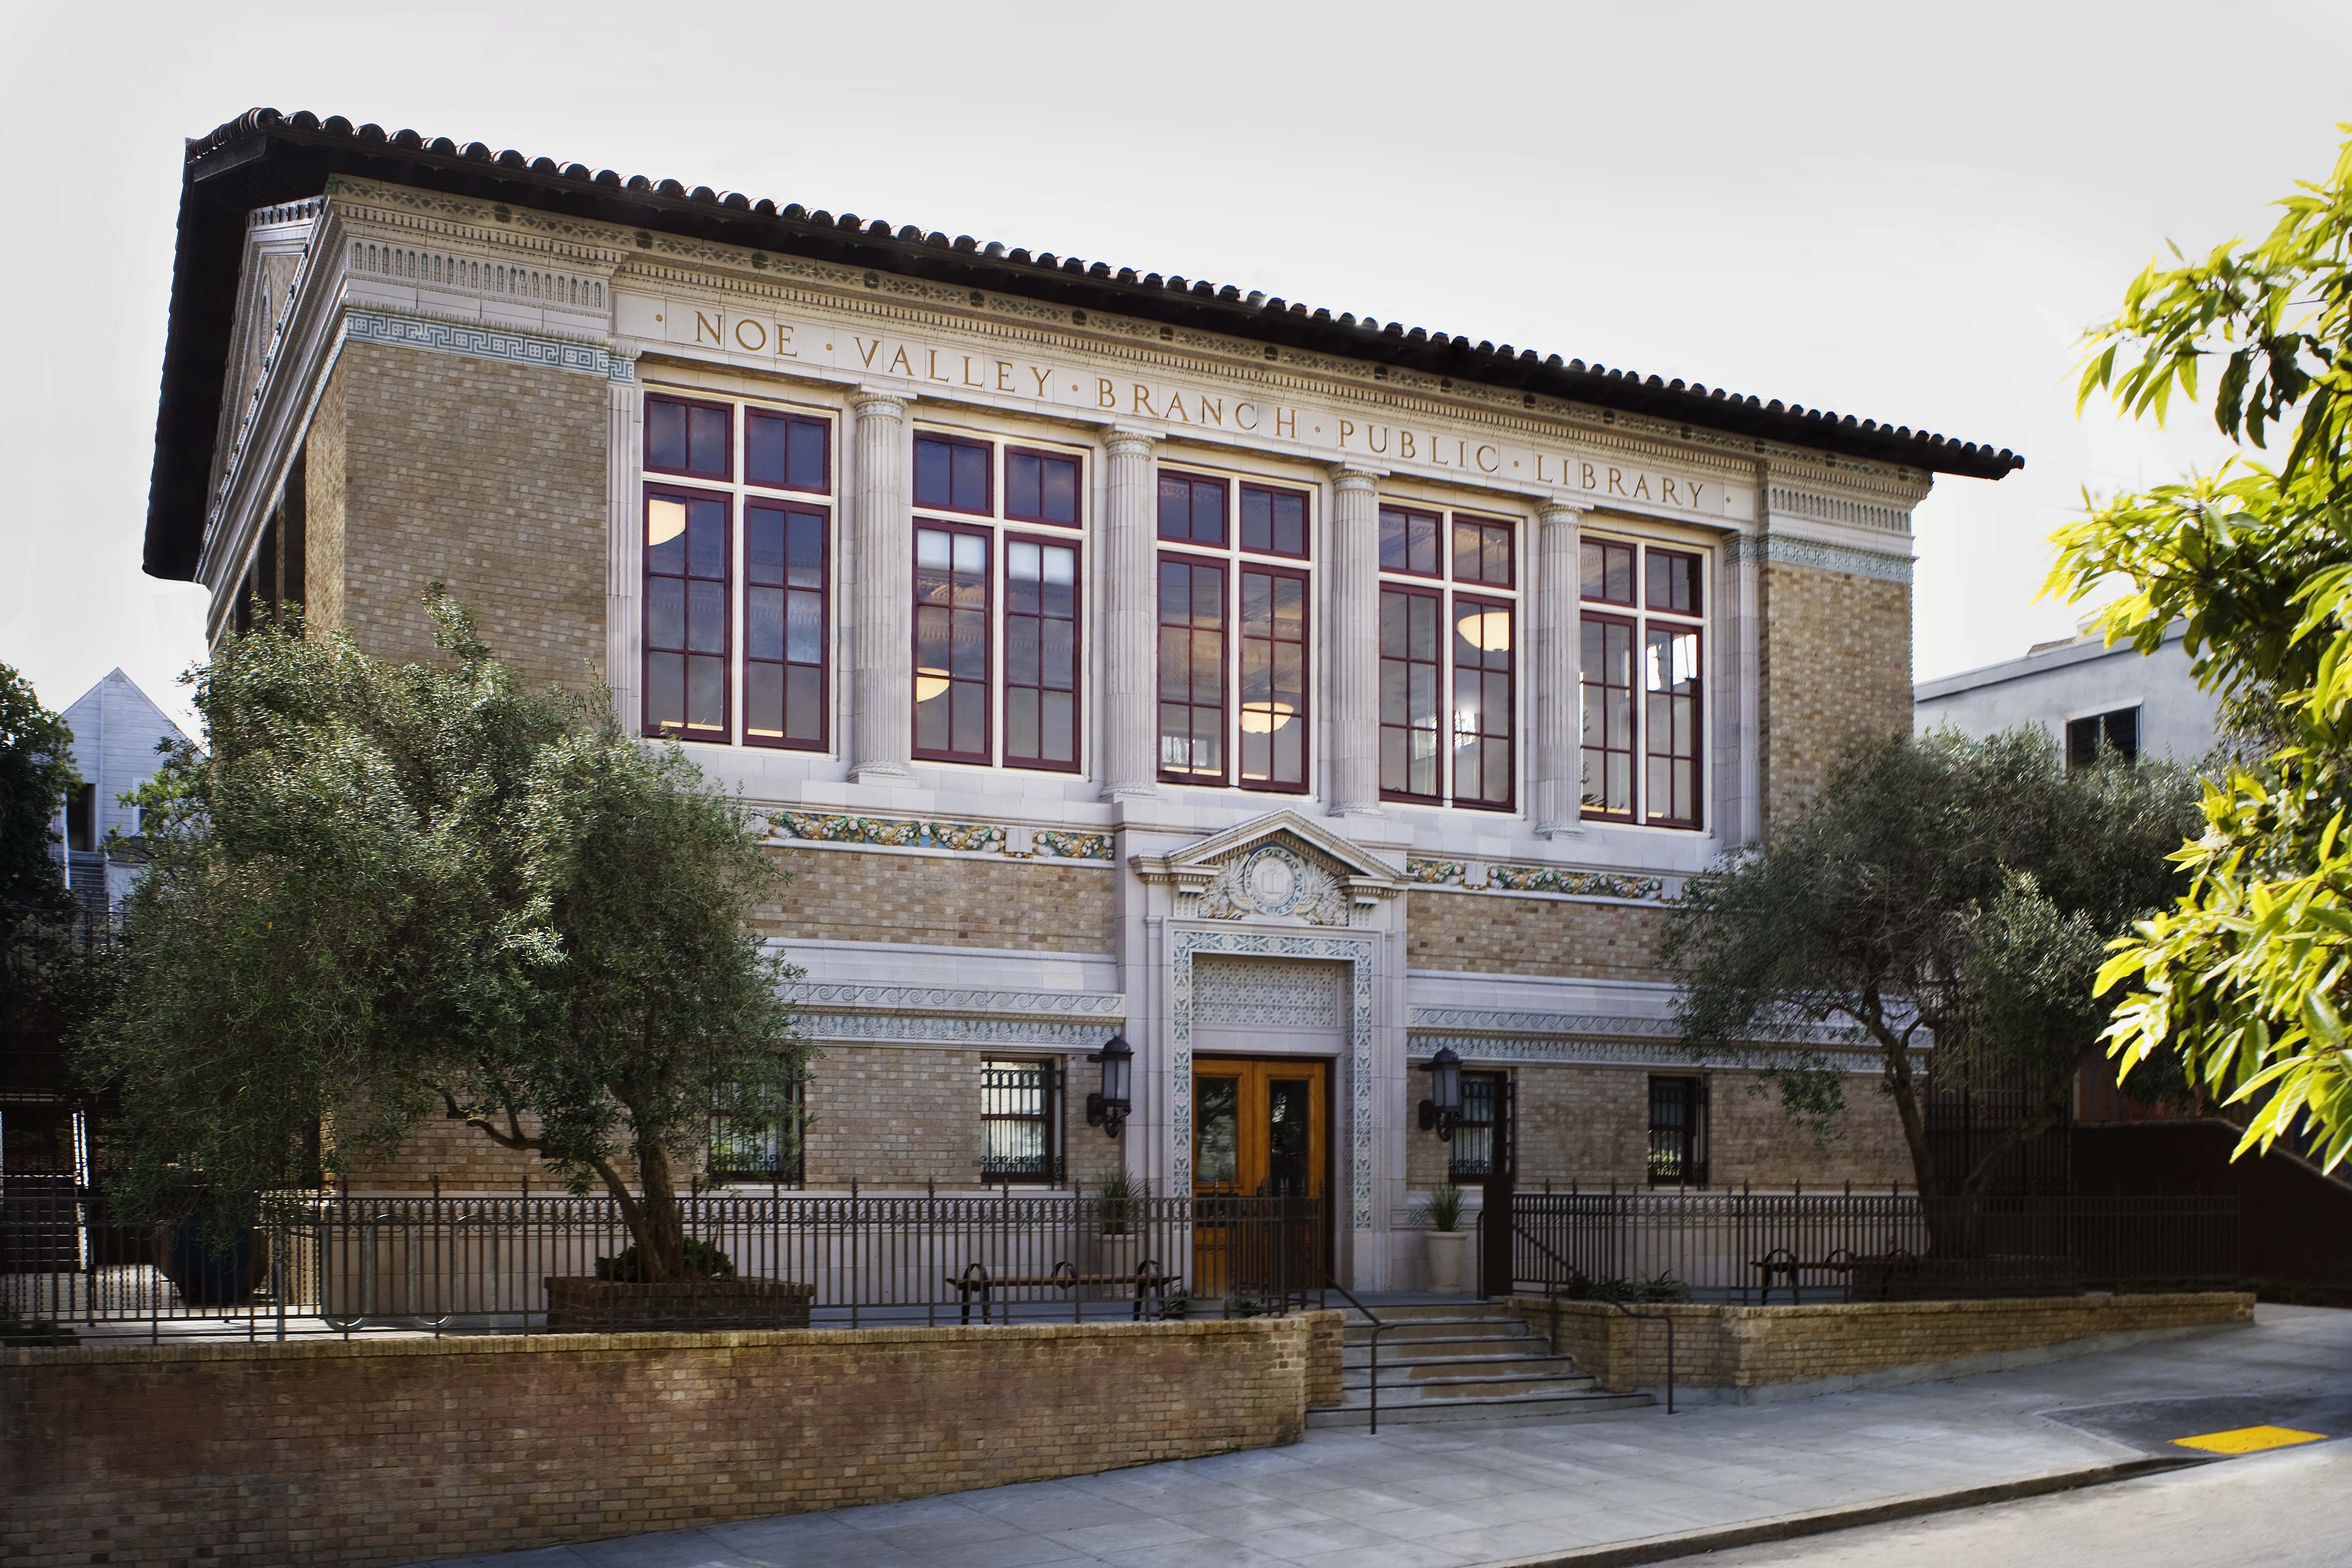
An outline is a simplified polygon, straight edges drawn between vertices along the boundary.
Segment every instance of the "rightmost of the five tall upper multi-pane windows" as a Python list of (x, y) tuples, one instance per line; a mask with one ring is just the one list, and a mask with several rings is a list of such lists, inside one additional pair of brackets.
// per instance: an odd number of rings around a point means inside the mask
[(1698, 827), (1700, 557), (1621, 538), (1585, 538), (1581, 555), (1585, 816)]

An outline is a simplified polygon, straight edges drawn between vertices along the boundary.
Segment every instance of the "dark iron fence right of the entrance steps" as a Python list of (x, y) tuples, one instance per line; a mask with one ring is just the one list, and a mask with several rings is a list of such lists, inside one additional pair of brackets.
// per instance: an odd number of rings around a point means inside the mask
[(2223, 1288), (2216, 1197), (1519, 1192), (1512, 1281), (1604, 1300), (1844, 1302)]

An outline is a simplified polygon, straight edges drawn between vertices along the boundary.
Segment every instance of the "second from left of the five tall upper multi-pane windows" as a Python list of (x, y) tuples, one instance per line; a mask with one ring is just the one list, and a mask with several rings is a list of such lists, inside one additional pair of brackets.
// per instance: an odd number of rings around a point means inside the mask
[(917, 757), (1082, 766), (1084, 489), (1077, 454), (915, 433)]

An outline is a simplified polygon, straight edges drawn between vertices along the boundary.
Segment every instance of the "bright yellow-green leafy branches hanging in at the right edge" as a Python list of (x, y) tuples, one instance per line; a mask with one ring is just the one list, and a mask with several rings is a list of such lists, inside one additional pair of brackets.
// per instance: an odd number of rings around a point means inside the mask
[(2336, 1166), (2352, 1150), (2352, 141), (2326, 181), (2279, 202), (2265, 240), (2171, 254), (2091, 329), (2079, 402), (2105, 390), (2161, 421), (2204, 386), (2239, 451), (2211, 475), (2086, 496), (2056, 536), (2049, 592), (2126, 581), (2103, 623), (2143, 651), (2180, 623), (2241, 757), (2176, 856), (2187, 891), (2098, 976), (2131, 983), (2107, 1046), (2126, 1079), (2178, 1065), (2251, 1107), (2239, 1154), (2300, 1131)]

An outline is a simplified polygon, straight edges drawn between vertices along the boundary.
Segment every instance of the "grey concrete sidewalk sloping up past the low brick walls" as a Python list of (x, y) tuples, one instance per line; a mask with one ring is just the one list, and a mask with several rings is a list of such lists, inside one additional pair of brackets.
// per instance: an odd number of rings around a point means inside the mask
[(1310, 1432), (1289, 1448), (442, 1568), (1463, 1568), (2025, 1481), (2258, 1422), (2352, 1434), (2352, 1312), (2263, 1307), (2253, 1328), (1776, 1406)]

